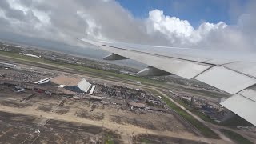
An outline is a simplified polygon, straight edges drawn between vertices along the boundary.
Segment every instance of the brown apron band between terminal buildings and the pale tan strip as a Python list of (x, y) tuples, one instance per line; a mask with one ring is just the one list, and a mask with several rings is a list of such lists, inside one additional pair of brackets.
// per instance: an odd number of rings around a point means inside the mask
[[(9, 89), (9, 90), (8, 90)], [(0, 94), (0, 104), (9, 107), (18, 107), (29, 110), (43, 111), (53, 114), (69, 114), (75, 117), (86, 118), (94, 121), (115, 122), (118, 124), (134, 125), (151, 130), (167, 130), (175, 132), (190, 132), (181, 122), (172, 115), (156, 111), (134, 112), (127, 107), (115, 105), (102, 105), (98, 102), (88, 102), (86, 100), (74, 100), (66, 98), (64, 106), (58, 106), (62, 101), (62, 96), (49, 96), (46, 94), (36, 94), (34, 98), (26, 102), (19, 99), (26, 95), (34, 94), (32, 90), (27, 90), (26, 94), (21, 95), (12, 92), (12, 88), (5, 89), (5, 95)], [(91, 106), (96, 105), (94, 111)]]

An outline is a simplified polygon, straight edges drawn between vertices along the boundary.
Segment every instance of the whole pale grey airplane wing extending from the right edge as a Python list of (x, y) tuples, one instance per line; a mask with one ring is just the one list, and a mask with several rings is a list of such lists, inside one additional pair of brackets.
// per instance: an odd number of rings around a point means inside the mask
[(256, 126), (256, 54), (82, 41), (112, 53), (104, 58), (106, 60), (130, 58), (149, 66), (138, 75), (175, 74), (224, 90), (232, 96), (222, 102), (222, 106)]

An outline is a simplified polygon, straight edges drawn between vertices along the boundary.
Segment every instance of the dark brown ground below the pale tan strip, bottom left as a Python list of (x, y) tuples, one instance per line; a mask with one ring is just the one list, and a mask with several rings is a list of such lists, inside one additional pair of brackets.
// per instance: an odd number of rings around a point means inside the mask
[[(38, 126), (38, 117), (0, 112), (0, 143), (96, 143), (109, 138), (122, 143), (120, 136), (100, 126), (49, 120)], [(34, 130), (40, 130), (40, 134)]]

